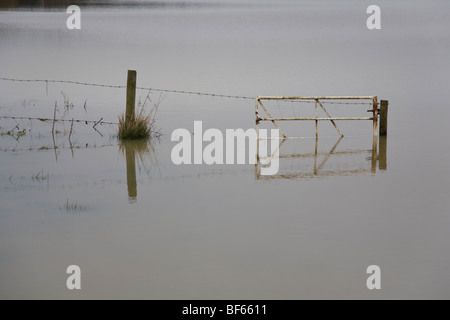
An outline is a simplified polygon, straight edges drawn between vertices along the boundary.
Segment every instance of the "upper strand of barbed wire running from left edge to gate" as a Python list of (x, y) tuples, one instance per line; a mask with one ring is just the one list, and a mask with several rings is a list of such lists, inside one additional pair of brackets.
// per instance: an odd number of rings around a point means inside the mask
[[(89, 82), (81, 82), (81, 81), (71, 81), (71, 80), (44, 80), (44, 79), (15, 79), (15, 78), (4, 78), (0, 77), (2, 81), (12, 81), (12, 82), (40, 82), (46, 83), (63, 83), (63, 84), (74, 84), (81, 86), (89, 86), (89, 87), (100, 87), (100, 88), (113, 88), (113, 89), (125, 89), (127, 86), (124, 85), (107, 85), (107, 84), (99, 84), (99, 83), (89, 83)], [(242, 95), (229, 95), (229, 94), (220, 94), (220, 93), (207, 93), (207, 92), (197, 92), (197, 91), (187, 91), (187, 90), (174, 90), (174, 89), (161, 89), (161, 88), (153, 88), (153, 87), (136, 87), (138, 90), (147, 90), (147, 91), (155, 91), (155, 92), (164, 92), (164, 93), (176, 93), (176, 94), (189, 94), (189, 95), (197, 95), (197, 96), (207, 96), (207, 97), (215, 97), (215, 98), (227, 98), (227, 99), (240, 99), (240, 100), (255, 100), (255, 97), (251, 96), (242, 96)], [(307, 101), (307, 100), (280, 100), (282, 102), (295, 102), (295, 103), (315, 103), (315, 101)], [(340, 101), (327, 101), (327, 104), (344, 104), (344, 105), (371, 105), (372, 103), (367, 102), (340, 102)]]

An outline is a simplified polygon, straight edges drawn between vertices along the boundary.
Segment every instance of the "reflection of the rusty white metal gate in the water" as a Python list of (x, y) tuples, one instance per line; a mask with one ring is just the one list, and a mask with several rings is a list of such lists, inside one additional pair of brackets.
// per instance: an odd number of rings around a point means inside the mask
[[(345, 176), (375, 174), (377, 164), (379, 170), (387, 169), (387, 137), (374, 136), (371, 149), (345, 149), (336, 151), (344, 137), (339, 137), (336, 143), (326, 152), (319, 152), (319, 139), (315, 139), (314, 153), (287, 153), (282, 154), (283, 144), (287, 140), (281, 140), (277, 150), (270, 157), (260, 157), (264, 163), (268, 163), (276, 152), (279, 153), (279, 172), (276, 175), (262, 175), (261, 162), (255, 165), (256, 180), (298, 179), (316, 178), (324, 176)], [(378, 150), (378, 143), (380, 144)], [(313, 161), (308, 159), (313, 158)], [(300, 164), (293, 165), (294, 160)], [(306, 160), (306, 161), (305, 161)], [(302, 163), (303, 161), (303, 163)], [(370, 165), (367, 162), (370, 161)], [(290, 165), (288, 164), (290, 163)], [(312, 163), (312, 169), (311, 167)], [(328, 169), (325, 169), (327, 167)], [(287, 171), (287, 172), (286, 172)]]

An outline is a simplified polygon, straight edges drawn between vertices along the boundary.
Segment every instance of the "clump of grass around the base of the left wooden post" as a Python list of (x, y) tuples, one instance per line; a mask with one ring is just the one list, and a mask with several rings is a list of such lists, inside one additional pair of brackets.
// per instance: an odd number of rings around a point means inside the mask
[(138, 110), (134, 118), (129, 122), (125, 121), (125, 113), (119, 116), (119, 139), (138, 140), (158, 137), (159, 130), (156, 128), (155, 115), (158, 110), (158, 103), (153, 104), (150, 112), (146, 111), (146, 103), (151, 102), (150, 93), (147, 94), (144, 102), (138, 102)]

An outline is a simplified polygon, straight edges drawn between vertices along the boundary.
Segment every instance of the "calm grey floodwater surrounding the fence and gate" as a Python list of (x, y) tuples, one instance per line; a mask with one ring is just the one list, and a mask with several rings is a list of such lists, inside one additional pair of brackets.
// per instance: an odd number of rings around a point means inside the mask
[(388, 137), (374, 166), (370, 121), (337, 122), (343, 139), (321, 122), (317, 147), (314, 122), (284, 122), (308, 138), (281, 146), (275, 176), (176, 166), (175, 129), (254, 128), (254, 101), (154, 90), (162, 136), (120, 143), (115, 125), (70, 120), (117, 122), (124, 89), (0, 80), (2, 117), (53, 119), (56, 102), (68, 120), (0, 119), (1, 299), (450, 298), (447, 1), (377, 1), (373, 31), (369, 1), (86, 2), (81, 30), (64, 8), (2, 9), (0, 77), (122, 86), (134, 69), (151, 88), (377, 95)]

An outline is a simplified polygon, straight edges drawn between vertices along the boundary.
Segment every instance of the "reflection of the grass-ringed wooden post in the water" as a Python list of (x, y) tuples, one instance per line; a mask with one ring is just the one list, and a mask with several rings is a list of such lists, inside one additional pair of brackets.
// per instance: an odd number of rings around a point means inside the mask
[(137, 201), (136, 165), (138, 165), (139, 170), (147, 170), (145, 159), (146, 156), (150, 155), (151, 150), (153, 149), (148, 140), (125, 140), (119, 144), (119, 151), (125, 155), (126, 159), (128, 200), (130, 203)]

